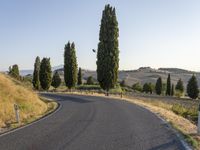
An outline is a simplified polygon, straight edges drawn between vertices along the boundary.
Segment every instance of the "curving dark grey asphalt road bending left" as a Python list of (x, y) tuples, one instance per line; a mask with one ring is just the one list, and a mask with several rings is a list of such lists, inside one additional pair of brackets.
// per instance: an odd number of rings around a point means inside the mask
[(51, 116), (0, 136), (0, 150), (182, 150), (176, 135), (137, 105), (100, 97), (53, 95)]

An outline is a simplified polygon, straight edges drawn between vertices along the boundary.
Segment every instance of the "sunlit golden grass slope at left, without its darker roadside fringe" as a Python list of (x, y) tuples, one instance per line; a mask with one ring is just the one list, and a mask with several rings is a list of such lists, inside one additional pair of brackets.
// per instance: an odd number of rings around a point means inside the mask
[(15, 122), (15, 103), (20, 107), (22, 121), (47, 111), (47, 105), (31, 89), (0, 73), (0, 128)]

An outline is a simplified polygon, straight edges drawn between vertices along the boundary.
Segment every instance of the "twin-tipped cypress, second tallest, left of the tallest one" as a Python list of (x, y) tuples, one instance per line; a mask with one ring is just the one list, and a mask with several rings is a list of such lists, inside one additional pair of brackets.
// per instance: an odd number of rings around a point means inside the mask
[(75, 44), (68, 42), (64, 52), (64, 79), (69, 89), (77, 83), (77, 67)]

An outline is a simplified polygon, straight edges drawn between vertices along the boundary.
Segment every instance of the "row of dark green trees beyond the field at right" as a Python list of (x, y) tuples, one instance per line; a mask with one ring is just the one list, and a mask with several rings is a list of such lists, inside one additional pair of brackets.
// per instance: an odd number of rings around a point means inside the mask
[(181, 79), (178, 80), (176, 85), (172, 84), (170, 74), (168, 74), (167, 83), (164, 83), (162, 78), (159, 77), (155, 85), (152, 83), (145, 83), (142, 86), (140, 83), (135, 83), (133, 84), (132, 89), (144, 93), (152, 94), (155, 92), (157, 95), (177, 97), (184, 96), (184, 93), (187, 93), (187, 95), (192, 99), (198, 98), (199, 95), (198, 81), (195, 75), (192, 75), (189, 79), (186, 90)]

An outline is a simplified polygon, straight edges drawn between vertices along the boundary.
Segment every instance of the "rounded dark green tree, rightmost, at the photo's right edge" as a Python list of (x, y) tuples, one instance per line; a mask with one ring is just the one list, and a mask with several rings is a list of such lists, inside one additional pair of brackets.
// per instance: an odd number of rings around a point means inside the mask
[(188, 81), (187, 93), (188, 93), (188, 96), (192, 99), (196, 99), (199, 95), (198, 82), (195, 75), (193, 75)]

